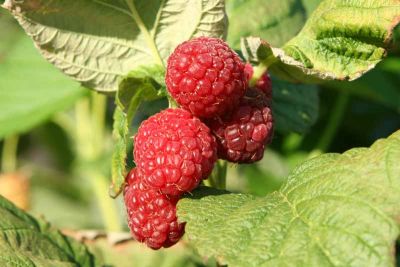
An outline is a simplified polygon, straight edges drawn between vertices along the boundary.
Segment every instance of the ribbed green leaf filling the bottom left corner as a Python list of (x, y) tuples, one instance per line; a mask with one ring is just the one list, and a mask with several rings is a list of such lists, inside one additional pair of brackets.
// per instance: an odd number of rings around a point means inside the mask
[(87, 248), (0, 196), (0, 265), (95, 266)]

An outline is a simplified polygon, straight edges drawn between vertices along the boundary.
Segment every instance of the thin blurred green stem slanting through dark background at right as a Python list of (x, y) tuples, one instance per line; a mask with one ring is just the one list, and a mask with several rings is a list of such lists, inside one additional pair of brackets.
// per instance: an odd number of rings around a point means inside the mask
[(349, 94), (344, 92), (338, 96), (333, 106), (332, 115), (328, 120), (328, 124), (322, 133), (321, 139), (319, 140), (316, 150), (320, 153), (326, 152), (339, 129), (340, 123), (342, 122), (345, 114), (347, 104), (349, 102)]

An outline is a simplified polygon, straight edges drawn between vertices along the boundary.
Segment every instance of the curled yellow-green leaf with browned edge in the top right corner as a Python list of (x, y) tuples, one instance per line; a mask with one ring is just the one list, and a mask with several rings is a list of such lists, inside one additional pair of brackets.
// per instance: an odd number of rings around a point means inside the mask
[(386, 55), (399, 22), (398, 0), (325, 0), (283, 48), (259, 38), (242, 47), (262, 53), (262, 63), (290, 81), (354, 80)]

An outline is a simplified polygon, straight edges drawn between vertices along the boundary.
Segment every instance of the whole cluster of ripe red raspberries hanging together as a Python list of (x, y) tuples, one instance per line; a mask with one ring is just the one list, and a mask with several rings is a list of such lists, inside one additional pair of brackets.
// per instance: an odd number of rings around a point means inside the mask
[(181, 238), (176, 203), (211, 174), (217, 158), (253, 163), (271, 142), (271, 80), (248, 84), (253, 67), (222, 40), (200, 37), (168, 59), (166, 84), (181, 106), (140, 125), (134, 137), (136, 168), (126, 177), (124, 200), (132, 235), (153, 249)]

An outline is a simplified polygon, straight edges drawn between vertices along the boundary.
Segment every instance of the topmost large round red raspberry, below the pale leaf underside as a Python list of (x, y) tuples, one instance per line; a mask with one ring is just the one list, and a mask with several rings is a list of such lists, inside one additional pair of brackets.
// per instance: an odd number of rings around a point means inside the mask
[(244, 63), (221, 39), (199, 37), (180, 44), (168, 59), (168, 91), (200, 118), (229, 112), (243, 97)]

